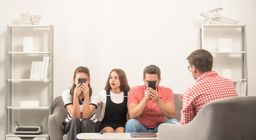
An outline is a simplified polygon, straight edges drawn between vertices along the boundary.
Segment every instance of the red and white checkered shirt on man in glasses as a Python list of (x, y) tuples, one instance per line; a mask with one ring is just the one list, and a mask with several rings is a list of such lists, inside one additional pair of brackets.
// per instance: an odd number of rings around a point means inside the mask
[(237, 92), (231, 80), (218, 76), (216, 71), (203, 73), (184, 93), (180, 124), (193, 120), (204, 104), (234, 96)]

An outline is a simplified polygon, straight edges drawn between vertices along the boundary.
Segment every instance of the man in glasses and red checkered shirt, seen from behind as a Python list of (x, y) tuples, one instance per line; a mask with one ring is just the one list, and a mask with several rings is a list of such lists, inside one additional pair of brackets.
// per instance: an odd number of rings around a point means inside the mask
[(237, 96), (231, 80), (218, 76), (212, 71), (213, 57), (209, 51), (199, 49), (192, 52), (187, 60), (195, 82), (179, 98), (183, 101), (180, 124), (189, 123), (208, 102)]

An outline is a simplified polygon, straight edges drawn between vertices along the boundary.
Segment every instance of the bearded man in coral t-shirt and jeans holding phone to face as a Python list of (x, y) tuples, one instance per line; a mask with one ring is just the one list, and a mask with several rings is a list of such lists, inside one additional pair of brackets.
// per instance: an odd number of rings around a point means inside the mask
[[(128, 113), (130, 120), (126, 122), (126, 133), (157, 132), (161, 123), (177, 123), (173, 119), (175, 105), (173, 91), (159, 86), (161, 71), (155, 65), (144, 69), (143, 81), (145, 85), (132, 87), (128, 95)], [(155, 81), (155, 89), (148, 87), (148, 81)], [(170, 120), (166, 120), (166, 118)]]

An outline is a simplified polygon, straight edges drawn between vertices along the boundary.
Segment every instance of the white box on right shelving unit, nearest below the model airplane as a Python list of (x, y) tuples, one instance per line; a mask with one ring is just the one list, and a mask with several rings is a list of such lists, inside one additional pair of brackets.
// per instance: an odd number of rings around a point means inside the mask
[(232, 51), (232, 38), (219, 38), (218, 51)]

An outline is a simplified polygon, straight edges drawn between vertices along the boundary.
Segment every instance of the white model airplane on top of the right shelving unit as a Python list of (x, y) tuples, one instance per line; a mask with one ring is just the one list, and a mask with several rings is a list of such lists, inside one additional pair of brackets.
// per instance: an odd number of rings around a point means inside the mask
[(219, 7), (216, 9), (212, 9), (209, 11), (201, 11), (198, 13), (200, 13), (200, 16), (203, 16), (205, 18), (204, 21), (206, 21), (206, 24), (211, 24), (212, 20), (218, 21), (218, 22), (223, 22), (223, 23), (231, 23), (231, 24), (236, 24), (239, 22), (238, 20), (234, 20), (231, 18), (227, 18), (225, 16), (221, 16), (220, 14), (221, 14), (222, 9), (223, 8)]

